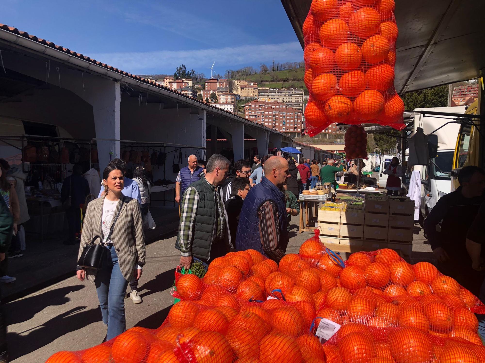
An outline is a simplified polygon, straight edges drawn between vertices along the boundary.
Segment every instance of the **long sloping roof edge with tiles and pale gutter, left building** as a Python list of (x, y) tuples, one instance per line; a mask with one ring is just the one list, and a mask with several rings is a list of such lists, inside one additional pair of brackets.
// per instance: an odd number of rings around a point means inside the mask
[[(294, 138), (288, 134), (269, 129), (268, 127), (259, 125), (256, 122), (246, 120), (240, 117), (237, 113), (223, 110), (216, 106), (212, 106), (209, 103), (204, 102), (203, 100), (198, 100), (181, 92), (170, 90), (169, 88), (157, 84), (154, 80), (132, 75), (128, 72), (122, 71), (121, 69), (103, 63), (101, 61), (97, 61), (83, 54), (77, 53), (69, 48), (57, 45), (46, 39), (38, 38), (35, 35), (29, 34), (26, 31), (18, 30), (17, 28), (10, 27), (5, 24), (0, 24), (0, 46), (1, 45), (8, 45), (15, 48), (21, 47), (22, 49), (27, 50), (31, 53), (36, 53), (41, 57), (46, 57), (55, 61), (66, 63), (70, 67), (79, 68), (84, 72), (107, 76), (117, 81), (124, 81), (131, 86), (170, 97), (176, 102), (181, 102), (187, 104), (188, 106), (202, 108), (208, 112), (211, 112), (212, 114), (222, 115), (229, 119), (240, 121), (248, 126), (263, 129), (265, 131), (269, 131), (270, 133), (278, 134), (284, 137), (285, 140), (292, 140)], [(3, 63), (1, 63), (0, 65), (3, 65)], [(3, 83), (1, 84), (3, 85)]]

